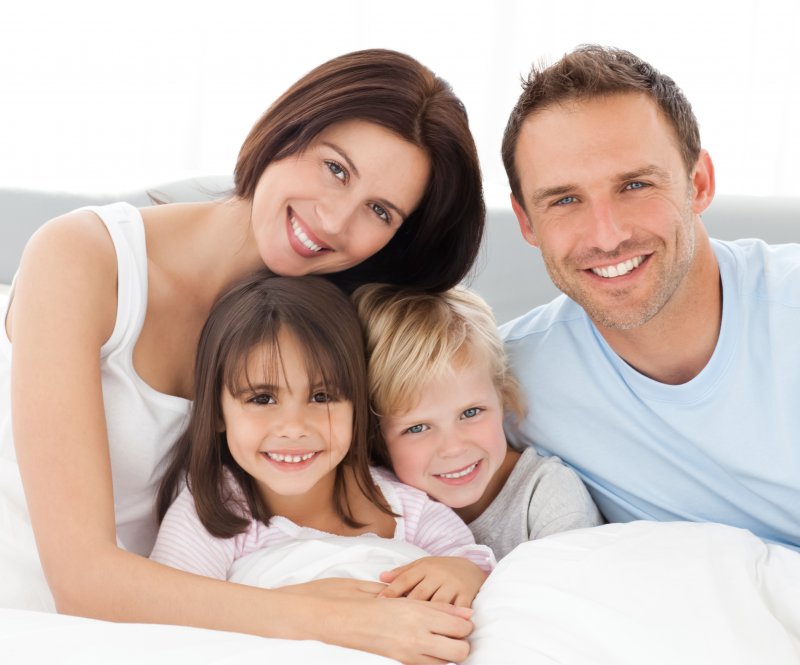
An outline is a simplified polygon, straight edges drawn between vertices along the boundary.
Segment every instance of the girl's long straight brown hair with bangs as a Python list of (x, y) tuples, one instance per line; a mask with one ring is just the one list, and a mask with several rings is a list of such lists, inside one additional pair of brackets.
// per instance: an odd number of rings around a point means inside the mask
[[(253, 351), (280, 357), (278, 333), (290, 332), (305, 351), (309, 377), (322, 377), (326, 389), (353, 405), (353, 440), (336, 467), (334, 505), (346, 524), (355, 521), (347, 503), (343, 465), (349, 465), (365, 496), (388, 511), (372, 482), (367, 457), (369, 398), (364, 342), (355, 309), (347, 296), (321, 277), (276, 277), (261, 270), (223, 295), (200, 335), (195, 361), (195, 398), (189, 426), (175, 444), (161, 481), (156, 510), (164, 518), (186, 479), (203, 526), (217, 538), (243, 532), (251, 519), (268, 524), (272, 513), (256, 481), (233, 459), (225, 432), (221, 395), (235, 393)], [(277, 373), (276, 363), (267, 362)], [(230, 472), (246, 505), (225, 480)]]

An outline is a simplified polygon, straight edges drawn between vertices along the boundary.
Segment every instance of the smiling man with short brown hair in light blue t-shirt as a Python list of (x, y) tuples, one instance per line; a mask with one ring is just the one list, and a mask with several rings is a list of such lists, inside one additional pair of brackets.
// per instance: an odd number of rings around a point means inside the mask
[(503, 328), (529, 416), (609, 521), (800, 548), (800, 245), (709, 239), (714, 167), (669, 77), (583, 46), (523, 86), (512, 207), (565, 294)]

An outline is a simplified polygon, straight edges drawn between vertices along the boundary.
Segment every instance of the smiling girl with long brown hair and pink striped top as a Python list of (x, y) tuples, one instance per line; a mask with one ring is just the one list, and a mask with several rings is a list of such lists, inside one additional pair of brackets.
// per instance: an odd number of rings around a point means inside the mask
[[(265, 548), (302, 570), (331, 547), (341, 557), (352, 537), (389, 548), (381, 539), (396, 539), (432, 556), (392, 576), (385, 595), (468, 607), (492, 553), (450, 509), (369, 468), (366, 383), (358, 318), (330, 282), (261, 272), (230, 290), (201, 333), (197, 395), (159, 492), (151, 557), (250, 581), (233, 575), (236, 564)], [(298, 542), (311, 554), (287, 549)]]

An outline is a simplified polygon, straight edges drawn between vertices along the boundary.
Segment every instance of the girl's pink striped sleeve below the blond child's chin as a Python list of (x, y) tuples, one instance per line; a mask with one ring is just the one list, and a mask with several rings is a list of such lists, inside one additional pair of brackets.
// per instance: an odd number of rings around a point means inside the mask
[(461, 556), (491, 572), (497, 564), (491, 548), (478, 545), (469, 527), (451, 508), (424, 492), (413, 492), (413, 497), (406, 494), (403, 501), (408, 541), (431, 556)]

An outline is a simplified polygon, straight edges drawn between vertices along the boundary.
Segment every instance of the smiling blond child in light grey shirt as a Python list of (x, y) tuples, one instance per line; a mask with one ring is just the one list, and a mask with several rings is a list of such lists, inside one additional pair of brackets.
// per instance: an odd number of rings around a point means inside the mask
[(385, 285), (356, 291), (367, 336), (374, 459), (455, 509), (498, 559), (516, 545), (602, 523), (578, 476), (556, 457), (506, 443), (524, 407), (494, 316), (475, 293)]

